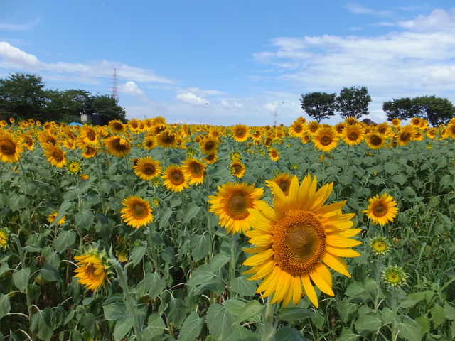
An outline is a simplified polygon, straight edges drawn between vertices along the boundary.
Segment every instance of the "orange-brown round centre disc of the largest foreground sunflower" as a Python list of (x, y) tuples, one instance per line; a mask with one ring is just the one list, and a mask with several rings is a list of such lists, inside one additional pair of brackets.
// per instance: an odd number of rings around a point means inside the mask
[(301, 275), (319, 264), (326, 251), (326, 232), (312, 212), (287, 212), (275, 225), (275, 231), (272, 249), (280, 269)]

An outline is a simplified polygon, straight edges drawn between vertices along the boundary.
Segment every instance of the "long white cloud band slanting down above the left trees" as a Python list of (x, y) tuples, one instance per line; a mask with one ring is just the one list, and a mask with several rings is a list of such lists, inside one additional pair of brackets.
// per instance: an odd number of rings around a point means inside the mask
[(72, 77), (85, 79), (86, 82), (95, 82), (97, 78), (112, 78), (114, 68), (120, 78), (135, 82), (157, 82), (175, 84), (174, 80), (155, 75), (154, 72), (141, 67), (134, 67), (109, 60), (97, 60), (92, 63), (45, 63), (35, 55), (26, 53), (6, 41), (0, 41), (0, 67), (18, 68), (33, 72), (65, 73)]

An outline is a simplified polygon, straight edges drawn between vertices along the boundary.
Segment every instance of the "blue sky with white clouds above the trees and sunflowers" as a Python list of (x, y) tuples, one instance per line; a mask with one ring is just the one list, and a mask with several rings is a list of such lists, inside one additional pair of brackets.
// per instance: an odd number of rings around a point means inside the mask
[(394, 98), (455, 104), (455, 2), (0, 1), (1, 78), (111, 94), (114, 68), (129, 119), (289, 125), (301, 94), (366, 86), (385, 121)]

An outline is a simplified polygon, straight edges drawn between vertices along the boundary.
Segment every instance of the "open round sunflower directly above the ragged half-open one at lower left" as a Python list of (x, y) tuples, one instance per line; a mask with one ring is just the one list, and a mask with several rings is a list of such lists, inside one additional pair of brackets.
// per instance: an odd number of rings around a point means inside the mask
[(150, 207), (150, 202), (131, 195), (122, 201), (124, 207), (122, 212), (122, 220), (127, 223), (128, 226), (139, 229), (139, 227), (146, 226), (149, 222), (154, 221), (154, 215)]

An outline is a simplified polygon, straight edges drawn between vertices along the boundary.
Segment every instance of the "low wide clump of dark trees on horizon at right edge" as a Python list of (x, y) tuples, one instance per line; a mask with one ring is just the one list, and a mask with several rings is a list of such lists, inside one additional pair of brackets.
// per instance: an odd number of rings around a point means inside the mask
[(388, 121), (419, 117), (429, 121), (432, 126), (447, 124), (455, 117), (455, 107), (449, 99), (435, 96), (393, 99), (392, 102), (384, 102), (382, 110), (387, 114)]

